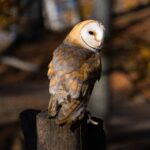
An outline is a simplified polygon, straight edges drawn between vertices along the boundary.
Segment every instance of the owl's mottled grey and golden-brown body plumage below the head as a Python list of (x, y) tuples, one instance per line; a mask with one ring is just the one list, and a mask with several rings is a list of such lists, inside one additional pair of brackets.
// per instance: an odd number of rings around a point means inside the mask
[[(69, 122), (70, 115), (79, 107), (80, 103), (86, 105), (95, 81), (100, 78), (101, 71), (100, 55), (98, 53), (95, 54), (74, 47), (71, 55), (70, 46), (66, 47), (65, 45), (64, 47), (65, 52), (62, 52), (64, 50), (63, 45), (54, 52), (48, 70), (51, 93), (50, 104), (52, 101), (54, 103), (49, 106), (49, 113), (51, 116), (57, 115), (58, 124)], [(60, 91), (65, 91), (65, 94), (61, 97), (66, 102), (58, 99), (57, 94)], [(59, 100), (62, 101), (60, 105), (59, 102), (56, 102)], [(52, 108), (52, 106), (55, 108)]]

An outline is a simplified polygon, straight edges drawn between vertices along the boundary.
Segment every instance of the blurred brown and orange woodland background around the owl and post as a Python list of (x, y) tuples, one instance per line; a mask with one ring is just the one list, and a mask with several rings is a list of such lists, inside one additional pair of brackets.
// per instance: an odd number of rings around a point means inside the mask
[(86, 19), (106, 28), (88, 109), (107, 150), (150, 149), (150, 0), (0, 0), (0, 150), (25, 149), (19, 114), (47, 108), (52, 52)]

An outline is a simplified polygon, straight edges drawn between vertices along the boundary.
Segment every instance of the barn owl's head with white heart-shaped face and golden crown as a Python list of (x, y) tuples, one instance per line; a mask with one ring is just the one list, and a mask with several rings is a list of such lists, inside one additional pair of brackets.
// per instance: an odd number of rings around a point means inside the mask
[(104, 40), (104, 26), (96, 20), (78, 23), (67, 35), (65, 42), (99, 52)]

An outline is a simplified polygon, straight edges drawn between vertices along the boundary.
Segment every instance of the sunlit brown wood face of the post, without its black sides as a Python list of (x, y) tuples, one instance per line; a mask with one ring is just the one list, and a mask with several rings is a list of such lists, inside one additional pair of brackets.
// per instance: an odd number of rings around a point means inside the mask
[(80, 127), (75, 131), (70, 125), (60, 127), (47, 112), (37, 115), (38, 150), (82, 150)]

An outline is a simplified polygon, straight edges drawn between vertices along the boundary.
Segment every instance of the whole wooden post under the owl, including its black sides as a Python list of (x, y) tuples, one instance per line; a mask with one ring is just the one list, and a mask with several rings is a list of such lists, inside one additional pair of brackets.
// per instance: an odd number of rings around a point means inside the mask
[[(87, 123), (85, 116), (77, 124), (61, 127), (54, 119), (49, 119), (47, 112), (40, 112), (35, 118), (30, 113), (36, 114), (31, 111), (21, 114), (21, 124), (28, 150), (105, 150), (106, 148), (103, 121), (100, 119), (93, 118), (98, 123), (94, 125)], [(34, 120), (34, 124), (31, 120)]]

